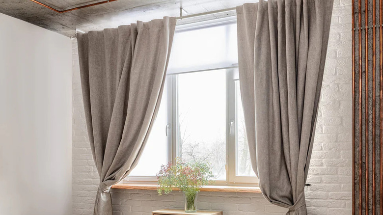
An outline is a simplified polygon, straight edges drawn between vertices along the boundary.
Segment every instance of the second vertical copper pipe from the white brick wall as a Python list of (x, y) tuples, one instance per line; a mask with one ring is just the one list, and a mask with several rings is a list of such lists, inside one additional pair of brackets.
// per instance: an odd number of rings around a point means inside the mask
[(362, 215), (362, 38), (361, 0), (358, 0), (358, 39), (359, 39), (359, 215)]

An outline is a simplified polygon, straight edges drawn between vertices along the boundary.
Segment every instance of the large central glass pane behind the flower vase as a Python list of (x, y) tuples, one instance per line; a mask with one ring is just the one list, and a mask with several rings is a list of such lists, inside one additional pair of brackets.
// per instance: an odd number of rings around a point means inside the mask
[(225, 70), (178, 75), (179, 156), (209, 161), (218, 180), (226, 179)]

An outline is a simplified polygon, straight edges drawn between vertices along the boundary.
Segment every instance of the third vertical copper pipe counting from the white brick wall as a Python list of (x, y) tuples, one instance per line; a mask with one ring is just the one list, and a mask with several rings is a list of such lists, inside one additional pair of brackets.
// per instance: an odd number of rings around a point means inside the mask
[(365, 120), (366, 120), (366, 124), (365, 124), (365, 144), (366, 144), (366, 148), (365, 148), (365, 169), (366, 169), (366, 172), (365, 172), (365, 176), (366, 176), (366, 183), (365, 183), (365, 188), (366, 188), (366, 202), (365, 202), (365, 210), (366, 210), (366, 215), (368, 215), (368, 0), (364, 0), (364, 25), (365, 25), (365, 67), (366, 67), (366, 83), (365, 83), (365, 90), (366, 90), (366, 93), (365, 93)]

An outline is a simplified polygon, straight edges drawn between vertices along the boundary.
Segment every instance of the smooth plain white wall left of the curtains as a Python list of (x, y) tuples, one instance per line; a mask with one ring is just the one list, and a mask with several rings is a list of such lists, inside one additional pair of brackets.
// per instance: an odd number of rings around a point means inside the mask
[(71, 40), (0, 13), (0, 215), (72, 214)]

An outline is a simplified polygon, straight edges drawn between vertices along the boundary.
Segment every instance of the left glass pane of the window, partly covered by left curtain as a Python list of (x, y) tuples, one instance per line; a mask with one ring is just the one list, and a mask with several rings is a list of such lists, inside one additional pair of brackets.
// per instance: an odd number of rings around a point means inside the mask
[[(166, 85), (165, 85), (166, 86)], [(166, 97), (167, 89), (164, 88), (160, 109), (156, 121), (149, 134), (148, 141), (137, 166), (129, 176), (156, 176), (161, 164), (166, 164)]]

